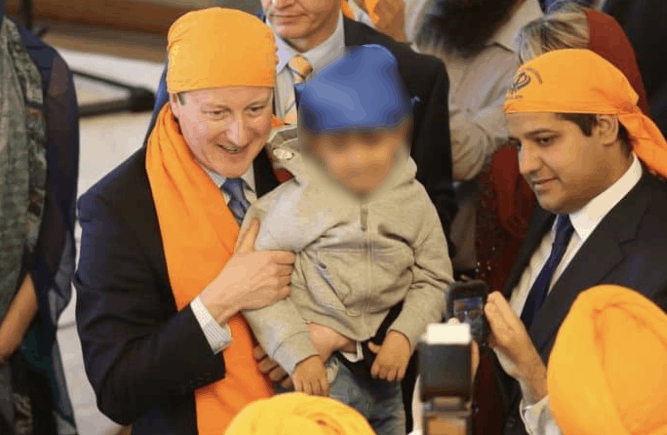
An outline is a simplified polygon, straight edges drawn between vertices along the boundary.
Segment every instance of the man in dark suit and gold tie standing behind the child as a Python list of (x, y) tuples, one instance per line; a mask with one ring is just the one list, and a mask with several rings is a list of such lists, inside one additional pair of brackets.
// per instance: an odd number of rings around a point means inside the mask
[[(340, 10), (340, 0), (263, 0), (262, 6), (265, 13), (262, 18), (273, 29), (278, 45), (274, 111), (280, 119), (288, 118), (289, 111), (293, 110), (293, 85), (299, 79), (299, 72), (291, 65), (294, 57), (306, 59), (317, 73), (331, 61), (329, 54), (345, 46), (379, 44), (394, 54), (414, 108), (411, 155), (417, 163), (417, 179), (426, 187), (445, 234), (449, 236), (457, 206), (452, 188), (449, 80), (442, 61), (415, 53), (408, 45), (347, 19)], [(149, 133), (159, 109), (167, 101), (165, 78), (166, 69), (157, 91)], [(454, 244), (449, 242), (448, 246), (453, 256)], [(416, 358), (413, 357), (403, 382), (408, 432), (412, 429), (415, 379)]]

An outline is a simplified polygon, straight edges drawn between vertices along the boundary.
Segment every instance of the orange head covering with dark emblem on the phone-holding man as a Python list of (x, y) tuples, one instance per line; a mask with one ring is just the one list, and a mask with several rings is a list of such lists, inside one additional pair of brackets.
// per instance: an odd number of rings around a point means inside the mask
[(667, 177), (667, 141), (637, 107), (637, 100), (625, 75), (600, 55), (586, 49), (562, 49), (519, 68), (503, 110), (617, 115), (634, 139), (638, 157)]

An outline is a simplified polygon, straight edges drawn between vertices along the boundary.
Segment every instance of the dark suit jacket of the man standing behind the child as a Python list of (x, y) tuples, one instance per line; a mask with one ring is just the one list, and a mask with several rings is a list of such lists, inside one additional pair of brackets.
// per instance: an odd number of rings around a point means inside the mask
[[(448, 109), (450, 83), (444, 64), (436, 57), (415, 53), (408, 45), (398, 43), (365, 24), (345, 18), (343, 25), (346, 45), (380, 44), (398, 60), (398, 70), (414, 102), (411, 154), (417, 163), (417, 179), (426, 187), (436, 205), (445, 234), (449, 235), (457, 206), (452, 188)], [(165, 68), (157, 89), (149, 134), (155, 125), (157, 113), (169, 100), (166, 72)], [(453, 256), (453, 244), (449, 245)]]

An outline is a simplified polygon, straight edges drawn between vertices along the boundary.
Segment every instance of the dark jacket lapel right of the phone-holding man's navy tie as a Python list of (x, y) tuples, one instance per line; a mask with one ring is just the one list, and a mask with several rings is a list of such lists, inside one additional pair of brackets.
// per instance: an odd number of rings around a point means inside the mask
[(628, 195), (604, 217), (572, 258), (537, 313), (528, 332), (545, 362), (551, 353), (547, 344), (552, 342), (578, 294), (602, 283), (624, 260), (622, 245), (636, 238), (642, 216), (649, 205), (650, 195), (644, 194), (648, 176), (644, 174)]

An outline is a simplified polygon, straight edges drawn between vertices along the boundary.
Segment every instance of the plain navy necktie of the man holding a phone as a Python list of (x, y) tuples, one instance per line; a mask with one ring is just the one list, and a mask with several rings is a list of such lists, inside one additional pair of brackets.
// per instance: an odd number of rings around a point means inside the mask
[(558, 264), (560, 264), (560, 260), (562, 260), (563, 255), (568, 248), (573, 232), (574, 227), (572, 226), (572, 222), (570, 222), (570, 215), (558, 215), (558, 221), (556, 222), (556, 238), (551, 247), (551, 254), (530, 289), (526, 305), (524, 305), (524, 310), (521, 313), (521, 320), (526, 325), (526, 328), (529, 328), (533, 323), (535, 314), (540, 310), (540, 307), (542, 307), (542, 304), (546, 299), (551, 278), (554, 276), (554, 272), (556, 272), (556, 268), (558, 267)]

